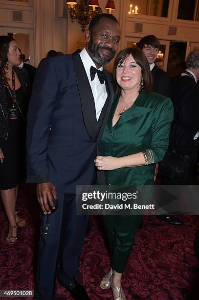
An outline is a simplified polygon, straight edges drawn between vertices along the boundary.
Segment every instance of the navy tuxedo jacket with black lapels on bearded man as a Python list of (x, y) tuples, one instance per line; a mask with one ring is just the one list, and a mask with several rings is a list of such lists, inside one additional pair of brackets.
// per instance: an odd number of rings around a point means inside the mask
[[(27, 118), (27, 182), (51, 181), (57, 191), (96, 179), (96, 141), (107, 122), (114, 92), (106, 72), (108, 98), (98, 122), (94, 98), (79, 51), (43, 59), (33, 84)], [(98, 181), (104, 184), (102, 172)]]

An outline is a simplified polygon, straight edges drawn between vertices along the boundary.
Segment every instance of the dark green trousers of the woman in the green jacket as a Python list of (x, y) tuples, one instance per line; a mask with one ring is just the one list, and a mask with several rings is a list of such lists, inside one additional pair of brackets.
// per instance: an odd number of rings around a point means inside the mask
[(112, 256), (112, 268), (123, 273), (137, 229), (142, 220), (141, 215), (104, 215)]

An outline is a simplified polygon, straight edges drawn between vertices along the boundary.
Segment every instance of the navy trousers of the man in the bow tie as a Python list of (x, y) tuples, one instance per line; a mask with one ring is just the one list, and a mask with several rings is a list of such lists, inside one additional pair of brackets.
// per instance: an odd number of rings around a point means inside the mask
[[(42, 219), (41, 226), (47, 216), (42, 215)], [(57, 276), (63, 286), (74, 281), (87, 222), (88, 216), (76, 215), (76, 195), (58, 193), (58, 209), (49, 218), (53, 231), (40, 236), (34, 293), (37, 300), (54, 299)]]

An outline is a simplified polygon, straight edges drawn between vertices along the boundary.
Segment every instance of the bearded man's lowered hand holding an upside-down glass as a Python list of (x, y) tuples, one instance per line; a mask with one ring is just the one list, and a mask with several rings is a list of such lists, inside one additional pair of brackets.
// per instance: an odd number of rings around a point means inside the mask
[(37, 184), (37, 200), (44, 215), (50, 214), (50, 208), (55, 208), (53, 198), (57, 200), (57, 192), (52, 182)]

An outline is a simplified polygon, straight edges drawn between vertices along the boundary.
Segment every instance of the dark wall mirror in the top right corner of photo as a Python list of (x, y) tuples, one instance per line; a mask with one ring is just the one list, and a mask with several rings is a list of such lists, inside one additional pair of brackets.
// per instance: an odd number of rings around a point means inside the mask
[(199, 0), (179, 0), (177, 19), (199, 21)]

